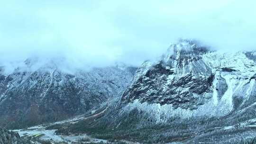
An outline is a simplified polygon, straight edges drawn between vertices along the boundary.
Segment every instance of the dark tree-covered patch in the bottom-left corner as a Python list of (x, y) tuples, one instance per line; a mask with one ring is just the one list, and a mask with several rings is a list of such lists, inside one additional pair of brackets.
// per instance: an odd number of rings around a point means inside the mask
[(32, 144), (29, 140), (21, 138), (18, 133), (9, 132), (0, 128), (0, 144)]

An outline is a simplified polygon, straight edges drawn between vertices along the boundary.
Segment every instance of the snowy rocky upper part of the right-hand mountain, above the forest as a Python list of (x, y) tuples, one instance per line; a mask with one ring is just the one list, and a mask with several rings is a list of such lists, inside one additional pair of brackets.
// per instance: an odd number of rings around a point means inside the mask
[(138, 108), (159, 122), (225, 116), (256, 104), (255, 58), (253, 52), (224, 54), (180, 41), (160, 61), (142, 64), (120, 106), (123, 112)]

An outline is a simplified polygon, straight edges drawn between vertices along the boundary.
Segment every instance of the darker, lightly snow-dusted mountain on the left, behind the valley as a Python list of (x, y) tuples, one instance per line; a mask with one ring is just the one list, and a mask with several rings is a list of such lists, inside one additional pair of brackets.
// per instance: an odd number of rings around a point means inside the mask
[[(30, 67), (33, 63), (25, 64)], [(116, 66), (70, 74), (47, 63), (34, 71), (17, 68), (1, 74), (0, 125), (36, 125), (99, 108), (127, 87), (135, 70)]]

